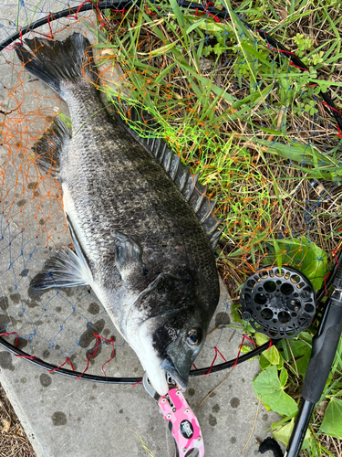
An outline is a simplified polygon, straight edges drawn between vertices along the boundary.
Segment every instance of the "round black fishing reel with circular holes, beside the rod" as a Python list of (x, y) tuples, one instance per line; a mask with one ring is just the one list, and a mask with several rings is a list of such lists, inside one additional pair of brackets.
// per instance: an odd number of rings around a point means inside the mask
[(242, 317), (272, 339), (292, 338), (311, 324), (316, 295), (311, 282), (292, 267), (264, 267), (244, 283)]

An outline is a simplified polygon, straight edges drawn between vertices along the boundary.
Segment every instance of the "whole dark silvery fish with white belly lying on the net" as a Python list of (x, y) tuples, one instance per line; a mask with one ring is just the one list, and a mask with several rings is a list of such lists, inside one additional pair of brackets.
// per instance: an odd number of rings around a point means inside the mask
[(152, 388), (165, 395), (171, 377), (185, 390), (219, 301), (215, 202), (161, 138), (109, 115), (88, 38), (35, 37), (15, 49), (67, 102), (72, 126), (70, 135), (56, 116), (33, 151), (62, 188), (74, 249), (57, 250), (30, 286), (90, 286)]

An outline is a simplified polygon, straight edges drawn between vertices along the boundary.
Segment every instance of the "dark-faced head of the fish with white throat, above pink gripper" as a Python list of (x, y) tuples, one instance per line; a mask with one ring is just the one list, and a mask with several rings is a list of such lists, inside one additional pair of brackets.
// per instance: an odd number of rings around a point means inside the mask
[[(157, 280), (135, 303), (135, 316), (131, 316), (130, 323), (140, 320), (138, 328), (131, 326), (136, 342), (132, 347), (151, 386), (165, 395), (169, 390), (167, 375), (182, 390), (187, 388), (192, 363), (204, 345), (217, 298), (210, 301), (210, 297), (201, 296), (191, 281), (170, 275)], [(138, 314), (144, 314), (144, 318), (141, 320)]]

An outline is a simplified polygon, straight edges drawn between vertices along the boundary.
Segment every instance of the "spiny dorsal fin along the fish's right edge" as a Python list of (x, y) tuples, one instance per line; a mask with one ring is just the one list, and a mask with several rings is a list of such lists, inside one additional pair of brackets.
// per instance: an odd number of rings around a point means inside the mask
[[(218, 230), (222, 219), (215, 218), (213, 208), (216, 202), (205, 195), (206, 186), (202, 186), (198, 182), (199, 175), (192, 175), (189, 168), (181, 163), (181, 157), (175, 154), (168, 144), (161, 139), (161, 135), (158, 133), (161, 131), (161, 127), (152, 119), (150, 112), (143, 110), (136, 104), (128, 105), (122, 101), (117, 102), (122, 117), (129, 119), (130, 122), (137, 122), (140, 129), (146, 131), (146, 137), (140, 136), (140, 143), (153, 154), (166, 173), (170, 175), (174, 184), (180, 189), (181, 194), (199, 218), (211, 241), (212, 249), (216, 250), (223, 232), (223, 229)], [(130, 132), (135, 137), (137, 136), (137, 133), (132, 129)]]

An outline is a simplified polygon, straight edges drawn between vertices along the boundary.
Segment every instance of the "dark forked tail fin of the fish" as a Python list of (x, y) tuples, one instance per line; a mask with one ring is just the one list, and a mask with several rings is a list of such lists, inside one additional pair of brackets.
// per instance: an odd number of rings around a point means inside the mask
[(81, 78), (98, 79), (90, 43), (81, 34), (74, 33), (64, 41), (35, 37), (26, 39), (25, 44), (30, 50), (16, 43), (16, 55), (30, 73), (56, 90), (61, 98), (70, 83), (78, 84)]

